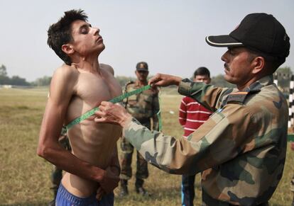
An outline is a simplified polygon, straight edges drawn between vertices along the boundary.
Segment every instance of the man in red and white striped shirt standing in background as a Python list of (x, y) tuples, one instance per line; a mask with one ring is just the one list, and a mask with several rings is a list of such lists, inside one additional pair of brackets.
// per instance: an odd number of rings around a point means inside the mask
[[(210, 72), (206, 67), (199, 67), (194, 72), (193, 81), (210, 83)], [(197, 130), (212, 115), (212, 111), (207, 110), (194, 99), (185, 96), (180, 103), (179, 121), (184, 128), (184, 138), (187, 138), (192, 132)], [(194, 190), (195, 175), (182, 176), (182, 205), (193, 205), (195, 197)]]

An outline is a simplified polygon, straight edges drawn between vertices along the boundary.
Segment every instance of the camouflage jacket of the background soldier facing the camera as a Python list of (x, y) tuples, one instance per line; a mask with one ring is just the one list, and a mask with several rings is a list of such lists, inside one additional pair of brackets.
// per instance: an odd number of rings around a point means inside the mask
[[(131, 81), (126, 84), (125, 92), (134, 91), (141, 87), (138, 81)], [(139, 122), (150, 122), (150, 118), (152, 118), (153, 130), (158, 130), (158, 117), (156, 115), (159, 110), (158, 93), (151, 90), (143, 91), (126, 98), (124, 105), (126, 110)]]

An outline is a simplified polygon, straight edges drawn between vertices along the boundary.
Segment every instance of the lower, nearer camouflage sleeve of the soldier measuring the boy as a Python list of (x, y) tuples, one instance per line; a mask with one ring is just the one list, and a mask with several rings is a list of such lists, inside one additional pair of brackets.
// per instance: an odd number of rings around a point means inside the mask
[[(246, 107), (232, 104), (212, 115), (187, 139), (151, 132), (136, 121), (124, 127), (124, 137), (154, 166), (168, 173), (195, 174), (234, 159), (252, 139), (251, 115)], [(225, 107), (225, 108), (226, 108)], [(247, 139), (246, 139), (247, 138)], [(246, 150), (247, 149), (247, 150)]]

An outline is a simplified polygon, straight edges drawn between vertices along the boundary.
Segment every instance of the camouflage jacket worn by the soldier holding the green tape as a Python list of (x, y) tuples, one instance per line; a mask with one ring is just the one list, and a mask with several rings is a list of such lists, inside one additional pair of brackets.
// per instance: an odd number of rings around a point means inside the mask
[(183, 79), (179, 93), (213, 110), (188, 139), (150, 132), (136, 120), (124, 136), (154, 166), (175, 174), (202, 173), (204, 205), (258, 205), (281, 180), (288, 105), (273, 76), (244, 91)]

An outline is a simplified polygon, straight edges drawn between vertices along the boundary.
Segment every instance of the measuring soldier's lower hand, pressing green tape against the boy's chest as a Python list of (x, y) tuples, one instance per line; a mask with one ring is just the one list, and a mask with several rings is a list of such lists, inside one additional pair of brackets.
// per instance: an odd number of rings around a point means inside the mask
[(121, 105), (102, 101), (99, 110), (95, 113), (95, 122), (113, 123), (124, 127), (131, 120), (131, 115)]

